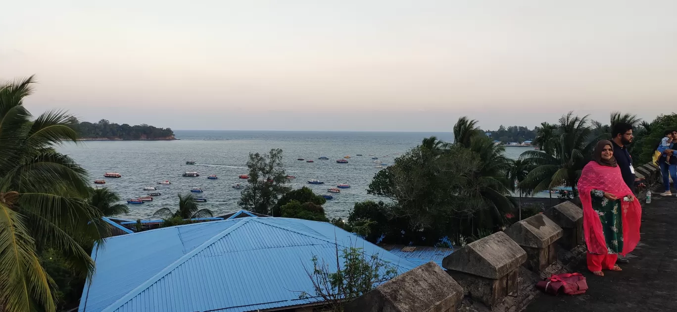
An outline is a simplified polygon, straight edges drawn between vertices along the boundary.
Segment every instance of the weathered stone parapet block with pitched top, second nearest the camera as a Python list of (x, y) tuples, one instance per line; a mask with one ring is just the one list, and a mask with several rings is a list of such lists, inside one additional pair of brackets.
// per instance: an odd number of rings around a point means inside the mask
[(517, 290), (517, 269), (526, 260), (527, 253), (498, 232), (456, 250), (442, 265), (466, 294), (492, 307)]

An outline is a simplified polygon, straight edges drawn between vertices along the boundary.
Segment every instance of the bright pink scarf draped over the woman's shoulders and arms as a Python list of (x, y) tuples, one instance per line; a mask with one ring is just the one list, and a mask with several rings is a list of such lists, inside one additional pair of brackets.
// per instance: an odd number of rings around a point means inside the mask
[(632, 202), (623, 200), (631, 195), (632, 191), (621, 176), (618, 166), (603, 166), (591, 161), (583, 168), (578, 180), (578, 195), (583, 204), (583, 231), (585, 233), (588, 251), (595, 254), (607, 254), (607, 243), (602, 230), (599, 215), (592, 209), (590, 191), (602, 190), (611, 193), (621, 201), (621, 221), (623, 222), (623, 251), (622, 255), (634, 250), (639, 242), (639, 227), (642, 222), (642, 206), (637, 198)]

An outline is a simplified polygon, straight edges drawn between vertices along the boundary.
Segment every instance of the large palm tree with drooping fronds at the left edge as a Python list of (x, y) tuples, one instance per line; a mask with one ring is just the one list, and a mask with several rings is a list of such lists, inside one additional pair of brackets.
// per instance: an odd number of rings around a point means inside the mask
[[(39, 261), (61, 252), (86, 275), (94, 263), (81, 244), (99, 240), (102, 214), (87, 204), (86, 171), (53, 147), (77, 143), (72, 116), (35, 119), (23, 106), (33, 76), (0, 85), (0, 311), (55, 311), (56, 286)], [(76, 119), (77, 120), (77, 119)]]

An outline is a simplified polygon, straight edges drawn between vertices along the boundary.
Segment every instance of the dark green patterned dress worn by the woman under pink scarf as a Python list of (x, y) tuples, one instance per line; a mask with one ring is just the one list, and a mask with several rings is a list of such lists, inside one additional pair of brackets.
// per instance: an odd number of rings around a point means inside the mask
[(602, 222), (605, 242), (609, 254), (623, 251), (623, 221), (621, 219), (621, 200), (609, 200), (604, 197), (604, 191), (592, 190), (592, 209), (599, 215)]

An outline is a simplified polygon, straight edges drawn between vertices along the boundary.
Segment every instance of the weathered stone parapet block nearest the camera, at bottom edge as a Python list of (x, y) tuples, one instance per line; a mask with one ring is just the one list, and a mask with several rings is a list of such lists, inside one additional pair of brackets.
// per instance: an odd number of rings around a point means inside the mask
[(346, 312), (455, 312), (463, 288), (429, 262), (399, 275), (348, 303)]

